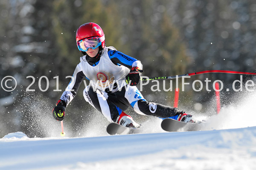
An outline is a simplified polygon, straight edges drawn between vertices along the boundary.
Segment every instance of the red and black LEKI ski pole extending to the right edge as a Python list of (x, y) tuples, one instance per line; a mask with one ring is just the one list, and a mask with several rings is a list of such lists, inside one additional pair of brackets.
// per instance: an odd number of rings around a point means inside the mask
[(184, 74), (184, 75), (163, 76), (163, 77), (154, 77), (154, 78), (142, 78), (142, 81), (168, 80), (168, 79), (175, 79), (175, 78), (180, 78), (180, 77), (184, 77), (184, 76), (201, 75), (201, 74), (211, 73), (211, 72), (241, 74), (241, 75), (256, 75), (256, 73), (254, 73), (254, 72), (237, 72), (237, 71), (229, 71), (229, 70), (206, 70), (206, 71), (201, 71), (201, 72), (192, 72), (192, 73)]

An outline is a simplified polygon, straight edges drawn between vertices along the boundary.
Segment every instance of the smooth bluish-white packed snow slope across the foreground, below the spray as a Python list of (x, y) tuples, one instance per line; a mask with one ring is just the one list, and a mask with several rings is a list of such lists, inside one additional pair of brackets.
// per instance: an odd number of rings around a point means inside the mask
[(255, 170), (256, 127), (87, 138), (0, 139), (1, 170)]

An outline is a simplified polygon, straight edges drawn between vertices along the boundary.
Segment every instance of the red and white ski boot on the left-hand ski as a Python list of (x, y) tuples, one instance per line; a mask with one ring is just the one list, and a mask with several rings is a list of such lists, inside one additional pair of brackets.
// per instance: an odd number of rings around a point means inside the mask
[(137, 124), (131, 116), (125, 114), (125, 112), (122, 112), (119, 117), (117, 118), (117, 123), (124, 127), (130, 127), (130, 128), (140, 128), (140, 125)]

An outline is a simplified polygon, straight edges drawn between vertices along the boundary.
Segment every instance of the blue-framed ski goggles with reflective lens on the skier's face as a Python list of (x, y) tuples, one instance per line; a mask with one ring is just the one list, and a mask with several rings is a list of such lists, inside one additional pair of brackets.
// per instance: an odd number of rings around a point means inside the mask
[(80, 51), (87, 52), (88, 49), (96, 49), (101, 45), (100, 37), (90, 37), (84, 40), (80, 40), (77, 43), (77, 47)]

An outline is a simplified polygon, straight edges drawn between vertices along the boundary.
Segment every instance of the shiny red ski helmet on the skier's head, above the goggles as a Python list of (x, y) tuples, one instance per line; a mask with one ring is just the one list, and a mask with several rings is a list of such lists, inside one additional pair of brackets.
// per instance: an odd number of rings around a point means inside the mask
[[(76, 31), (76, 43), (89, 37), (99, 37), (102, 49), (105, 48), (105, 35), (102, 28), (96, 23), (84, 23)], [(78, 46), (79, 48), (79, 46)]]

